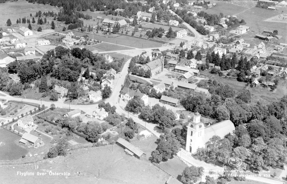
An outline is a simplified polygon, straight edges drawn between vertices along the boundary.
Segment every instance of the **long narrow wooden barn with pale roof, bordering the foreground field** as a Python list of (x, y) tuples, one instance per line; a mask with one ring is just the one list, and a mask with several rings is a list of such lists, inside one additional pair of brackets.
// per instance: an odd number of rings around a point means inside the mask
[(146, 154), (143, 151), (139, 150), (137, 147), (135, 147), (125, 139), (120, 137), (116, 143), (117, 145), (125, 149), (125, 152), (127, 152), (131, 156), (135, 156), (139, 160), (146, 158)]

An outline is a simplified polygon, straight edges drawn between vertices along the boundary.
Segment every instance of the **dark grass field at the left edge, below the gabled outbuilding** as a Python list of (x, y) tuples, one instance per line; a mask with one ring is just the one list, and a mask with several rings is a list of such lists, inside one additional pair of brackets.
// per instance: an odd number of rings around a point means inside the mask
[(27, 149), (19, 146), (20, 136), (0, 128), (0, 160), (15, 160), (28, 153)]

